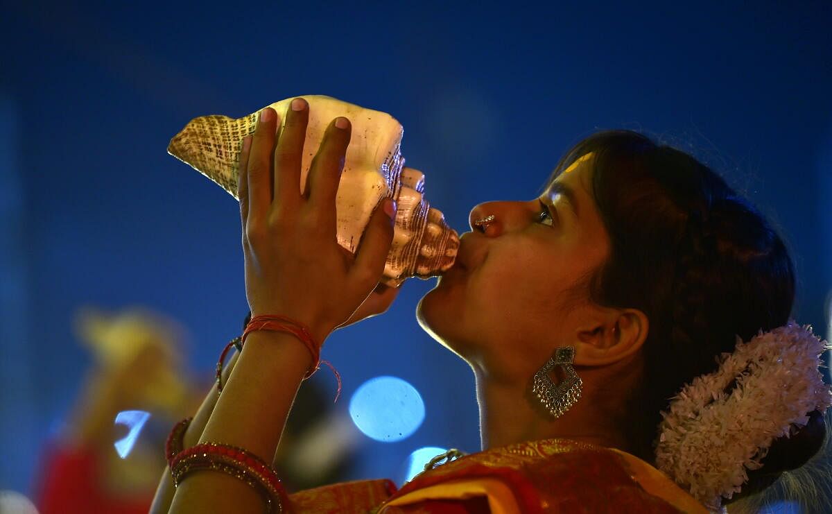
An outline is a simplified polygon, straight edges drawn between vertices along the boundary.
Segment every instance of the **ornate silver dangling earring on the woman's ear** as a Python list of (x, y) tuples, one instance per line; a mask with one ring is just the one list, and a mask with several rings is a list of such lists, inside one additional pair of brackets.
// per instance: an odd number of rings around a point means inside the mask
[[(555, 419), (560, 418), (577, 402), (578, 398), (581, 398), (583, 381), (575, 373), (575, 368), (572, 368), (574, 360), (575, 347), (560, 346), (555, 349), (555, 353), (552, 354), (547, 363), (543, 364), (543, 367), (537, 370), (537, 373), (534, 373), (532, 393), (537, 395), (540, 403)], [(566, 375), (566, 378), (557, 385), (549, 377), (549, 372), (555, 366), (560, 366), (563, 374)]]

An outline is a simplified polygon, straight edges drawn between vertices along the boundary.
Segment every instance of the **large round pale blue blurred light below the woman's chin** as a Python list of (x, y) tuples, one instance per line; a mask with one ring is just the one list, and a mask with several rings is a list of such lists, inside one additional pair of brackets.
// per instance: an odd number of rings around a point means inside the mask
[(424, 403), (418, 391), (401, 378), (370, 378), (349, 400), (349, 416), (367, 437), (401, 441), (422, 424)]

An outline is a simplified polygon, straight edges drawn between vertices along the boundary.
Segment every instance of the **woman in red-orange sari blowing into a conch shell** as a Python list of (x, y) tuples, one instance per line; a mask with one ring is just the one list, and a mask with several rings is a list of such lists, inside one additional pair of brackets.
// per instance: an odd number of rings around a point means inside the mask
[[(744, 422), (745, 432), (724, 428), (722, 443), (709, 435), (711, 442), (691, 450), (676, 440), (696, 432), (685, 424), (696, 417), (674, 413), (690, 408), (685, 401), (702, 389), (719, 397), (694, 379), (724, 371), (730, 363), (718, 368), (716, 357), (745, 355), (736, 336), (749, 341), (760, 331), (775, 334), (760, 339), (761, 348), (797, 348), (792, 360), (802, 368), (792, 366), (789, 377), (805, 376), (797, 385), (808, 385), (788, 398), (792, 418), (778, 418), (784, 409), (773, 403), (771, 412), (755, 405), (777, 418), (774, 432), (794, 426), (795, 434), (763, 441), (776, 458), (742, 492), (765, 487), (817, 452), (830, 393), (817, 373), (820, 342), (800, 328), (775, 331), (787, 323), (794, 297), (782, 241), (705, 166), (612, 131), (569, 151), (539, 199), (475, 207), (457, 263), (419, 304), (423, 329), (473, 368), (484, 451), (425, 472), (399, 492), (370, 481), (285, 497), (256, 462), (274, 455), (319, 344), (339, 326), (384, 312), (395, 296), (372, 293), (393, 235), (394, 205), (379, 206), (354, 258), (334, 239), (349, 121), (338, 118), (327, 129), (305, 197), (297, 184), (309, 106), (295, 99), (286, 116), (280, 141), (276, 113), (265, 109), (243, 144), (245, 286), (252, 323), (260, 324), (249, 325), (219, 399), (206, 398), (182, 437), (186, 450), (171, 461), (179, 481), (171, 512), (262, 512), (258, 484), (271, 490), (271, 507), (280, 502), (290, 512), (704, 512), (703, 502), (717, 509), (716, 495), (736, 492), (745, 470), (709, 470), (696, 457), (730, 454), (713, 449), (753, 444), (765, 431)], [(291, 321), (261, 318), (275, 314)], [(264, 324), (270, 329), (257, 329)], [(804, 354), (808, 360), (800, 360)], [(734, 385), (721, 386), (726, 402), (742, 396), (730, 394), (735, 388), (764, 389), (751, 381), (764, 360), (746, 359)], [(691, 382), (691, 393), (671, 404)], [(717, 411), (720, 419), (742, 412), (731, 408)], [(810, 423), (797, 430), (807, 413)], [(189, 452), (197, 442), (198, 451)], [(754, 455), (740, 460), (755, 467)], [(656, 470), (658, 461), (685, 489)], [(220, 472), (199, 471), (209, 466)], [(166, 475), (154, 508), (164, 511), (170, 497)]]

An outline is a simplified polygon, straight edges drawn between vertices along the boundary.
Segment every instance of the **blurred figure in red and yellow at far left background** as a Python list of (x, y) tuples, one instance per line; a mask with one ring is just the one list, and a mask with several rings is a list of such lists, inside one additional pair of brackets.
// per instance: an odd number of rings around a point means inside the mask
[(147, 512), (171, 423), (202, 388), (182, 365), (178, 324), (147, 309), (82, 309), (77, 339), (93, 355), (62, 433), (42, 456), (36, 503), (51, 512)]

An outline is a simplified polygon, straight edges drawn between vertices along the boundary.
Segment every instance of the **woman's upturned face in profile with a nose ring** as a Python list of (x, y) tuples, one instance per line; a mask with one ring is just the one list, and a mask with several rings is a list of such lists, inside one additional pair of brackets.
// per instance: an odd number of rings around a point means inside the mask
[[(582, 159), (540, 198), (474, 207), (456, 263), (419, 302), (423, 329), (475, 368), (533, 373), (585, 329), (582, 284), (609, 240), (590, 194), (592, 161)], [(473, 222), (488, 215), (483, 233)]]

